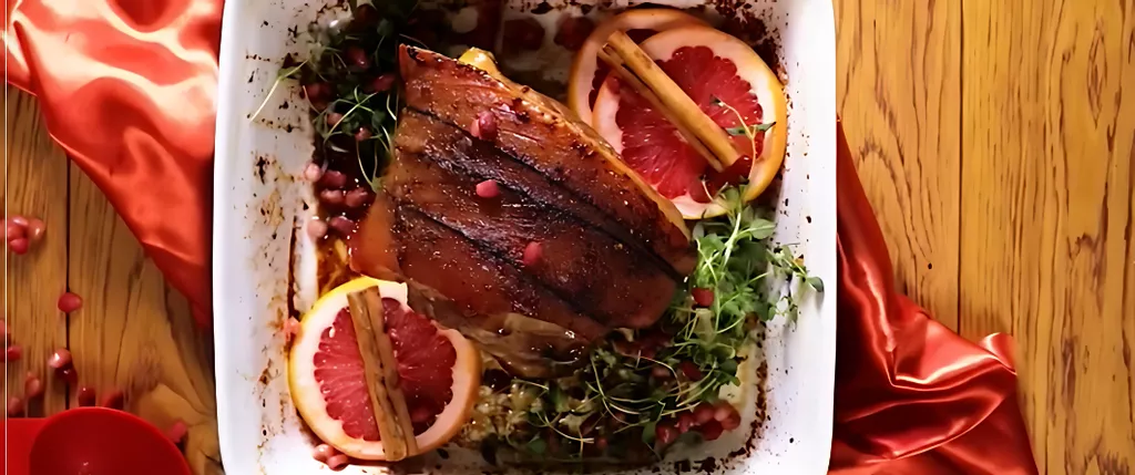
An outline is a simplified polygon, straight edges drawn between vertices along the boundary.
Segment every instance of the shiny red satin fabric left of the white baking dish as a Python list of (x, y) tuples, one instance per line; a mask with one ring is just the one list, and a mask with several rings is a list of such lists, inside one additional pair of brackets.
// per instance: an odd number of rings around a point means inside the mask
[[(166, 279), (212, 319), (219, 0), (8, 0), (8, 82)], [(18, 186), (18, 184), (17, 184)]]

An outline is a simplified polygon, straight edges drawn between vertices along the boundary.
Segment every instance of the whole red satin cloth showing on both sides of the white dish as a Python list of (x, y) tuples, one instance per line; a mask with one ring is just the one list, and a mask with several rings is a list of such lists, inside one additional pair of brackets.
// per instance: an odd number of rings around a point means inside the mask
[[(8, 0), (9, 83), (210, 322), (221, 0)], [(839, 337), (831, 472), (1035, 474), (1011, 341), (972, 343), (894, 291), (840, 129)]]

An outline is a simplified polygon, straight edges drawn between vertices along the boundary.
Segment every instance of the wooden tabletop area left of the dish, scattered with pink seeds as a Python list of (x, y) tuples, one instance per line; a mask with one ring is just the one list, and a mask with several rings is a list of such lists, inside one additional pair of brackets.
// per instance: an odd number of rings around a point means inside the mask
[[(8, 366), (12, 395), (23, 395), (27, 372), (48, 383), (30, 415), (76, 407), (78, 388), (102, 401), (111, 391), (125, 408), (161, 429), (182, 421), (185, 453), (194, 474), (218, 474), (212, 336), (202, 333), (188, 302), (166, 286), (137, 240), (102, 193), (58, 146), (39, 117), (34, 97), (14, 88), (7, 97), (7, 206), (40, 217), (45, 239), (23, 256), (7, 254), (5, 319), (24, 358)], [(56, 308), (70, 290), (83, 307)], [(56, 348), (69, 348), (78, 383), (68, 388), (47, 367)]]

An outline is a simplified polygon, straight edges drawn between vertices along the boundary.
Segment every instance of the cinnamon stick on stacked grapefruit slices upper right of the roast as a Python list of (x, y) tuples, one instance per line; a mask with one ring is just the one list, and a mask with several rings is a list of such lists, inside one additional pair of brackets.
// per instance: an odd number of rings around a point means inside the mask
[[(604, 45), (607, 53), (617, 59), (622, 65), (641, 79), (650, 91), (655, 93), (663, 109), (670, 113), (667, 119), (672, 121), (679, 130), (684, 129), (683, 136), (689, 134), (696, 137), (705, 149), (712, 152), (713, 159), (708, 160), (709, 166), (721, 171), (740, 159), (741, 153), (733, 146), (733, 141), (709, 116), (701, 111), (701, 108), (682, 91), (681, 87), (666, 76), (666, 73), (654, 62), (627, 33), (616, 31), (607, 37)], [(616, 68), (617, 69), (617, 68)], [(689, 139), (687, 138), (687, 142)]]

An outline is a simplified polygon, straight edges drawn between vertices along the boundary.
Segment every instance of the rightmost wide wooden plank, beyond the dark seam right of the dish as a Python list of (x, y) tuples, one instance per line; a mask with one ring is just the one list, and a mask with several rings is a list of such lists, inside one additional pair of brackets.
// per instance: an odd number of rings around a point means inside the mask
[(961, 332), (1018, 337), (1042, 473), (1128, 474), (1135, 1), (962, 12)]

